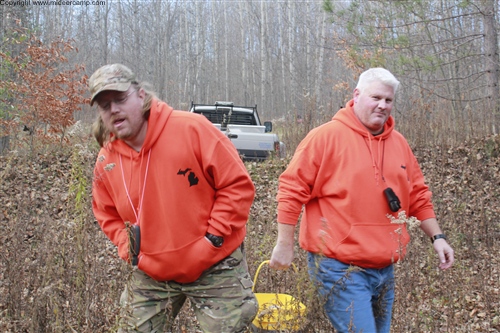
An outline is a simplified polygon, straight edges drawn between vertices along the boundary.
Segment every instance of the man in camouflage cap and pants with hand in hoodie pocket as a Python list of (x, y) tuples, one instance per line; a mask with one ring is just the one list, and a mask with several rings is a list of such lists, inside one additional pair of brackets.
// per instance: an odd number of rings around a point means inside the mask
[(172, 331), (186, 299), (204, 332), (245, 332), (257, 312), (243, 248), (255, 188), (233, 144), (124, 65), (99, 68), (89, 90), (94, 215), (136, 268), (119, 332)]

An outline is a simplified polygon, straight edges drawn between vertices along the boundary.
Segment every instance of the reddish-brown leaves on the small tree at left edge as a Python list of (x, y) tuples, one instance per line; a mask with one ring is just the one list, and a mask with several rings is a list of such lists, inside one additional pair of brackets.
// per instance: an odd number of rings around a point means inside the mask
[(66, 54), (74, 50), (71, 42), (57, 39), (45, 45), (33, 34), (18, 56), (0, 53), (16, 74), (0, 81), (0, 89), (13, 96), (4, 101), (12, 105), (11, 128), (27, 125), (37, 139), (63, 141), (73, 113), (87, 101), (84, 67), (64, 65)]

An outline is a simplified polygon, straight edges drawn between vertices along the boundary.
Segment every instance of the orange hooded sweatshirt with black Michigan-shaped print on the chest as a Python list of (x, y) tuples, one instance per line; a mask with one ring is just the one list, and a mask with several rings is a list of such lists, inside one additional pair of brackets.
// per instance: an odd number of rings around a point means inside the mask
[[(138, 268), (189, 283), (241, 245), (255, 188), (220, 130), (154, 99), (141, 151), (121, 140), (102, 148), (92, 194), (95, 217), (122, 259), (130, 260), (125, 222), (138, 224)], [(223, 236), (222, 247), (207, 232)]]

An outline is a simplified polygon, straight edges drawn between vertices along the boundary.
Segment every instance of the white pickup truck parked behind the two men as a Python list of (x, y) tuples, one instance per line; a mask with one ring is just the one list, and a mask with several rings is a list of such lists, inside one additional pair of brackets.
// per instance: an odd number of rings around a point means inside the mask
[(262, 161), (285, 157), (285, 144), (271, 133), (270, 121), (261, 124), (256, 106), (234, 106), (233, 102), (191, 103), (190, 112), (202, 114), (226, 134), (243, 160)]

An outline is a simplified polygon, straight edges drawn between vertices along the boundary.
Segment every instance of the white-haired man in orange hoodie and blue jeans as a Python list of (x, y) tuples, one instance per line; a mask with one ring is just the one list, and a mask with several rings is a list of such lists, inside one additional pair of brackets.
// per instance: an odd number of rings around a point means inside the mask
[(439, 268), (454, 261), (418, 162), (394, 129), (398, 86), (384, 68), (362, 73), (352, 100), (304, 138), (279, 180), (278, 238), (270, 266), (290, 266), (304, 207), (299, 243), (308, 251), (309, 275), (338, 332), (390, 332), (393, 264), (406, 253), (406, 222), (421, 221)]

